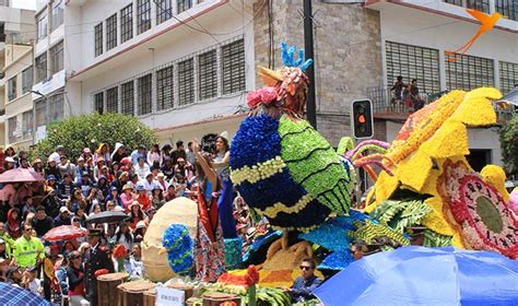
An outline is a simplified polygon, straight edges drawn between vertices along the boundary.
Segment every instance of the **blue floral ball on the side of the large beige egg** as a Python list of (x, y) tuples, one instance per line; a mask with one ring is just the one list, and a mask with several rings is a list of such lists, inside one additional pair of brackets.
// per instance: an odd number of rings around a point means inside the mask
[(167, 250), (167, 260), (175, 273), (189, 274), (193, 264), (192, 245), (185, 225), (172, 224), (165, 231), (162, 246)]

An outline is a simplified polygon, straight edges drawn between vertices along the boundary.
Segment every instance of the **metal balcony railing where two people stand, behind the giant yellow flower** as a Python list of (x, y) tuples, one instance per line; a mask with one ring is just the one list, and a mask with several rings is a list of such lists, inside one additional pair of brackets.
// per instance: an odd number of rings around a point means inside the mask
[[(427, 105), (447, 92), (423, 93), (420, 94), (420, 97), (424, 105)], [(393, 92), (386, 86), (367, 87), (367, 97), (373, 102), (373, 115), (377, 119), (404, 121), (414, 111), (413, 107), (408, 106), (404, 102), (397, 101)], [(494, 108), (498, 122), (505, 122), (513, 117), (513, 107), (503, 109), (494, 105)]]

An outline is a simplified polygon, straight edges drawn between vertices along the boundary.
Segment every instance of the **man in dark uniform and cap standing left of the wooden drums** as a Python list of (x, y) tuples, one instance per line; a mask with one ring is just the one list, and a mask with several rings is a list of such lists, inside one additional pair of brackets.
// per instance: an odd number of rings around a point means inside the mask
[[(93, 228), (89, 231), (89, 244), (91, 245), (86, 252), (85, 278), (86, 278), (86, 297), (91, 305), (97, 305), (97, 278), (95, 272), (101, 269), (114, 273), (114, 262), (111, 261), (106, 247), (101, 245), (102, 231)], [(80, 257), (81, 258), (81, 257)], [(80, 259), (78, 259), (80, 260)], [(70, 293), (69, 293), (70, 295)]]

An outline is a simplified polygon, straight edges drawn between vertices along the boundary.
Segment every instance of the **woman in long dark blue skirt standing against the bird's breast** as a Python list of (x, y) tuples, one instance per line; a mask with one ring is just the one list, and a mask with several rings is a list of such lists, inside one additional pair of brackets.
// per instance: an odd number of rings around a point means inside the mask
[(234, 186), (229, 175), (231, 168), (228, 161), (231, 158), (229, 145), (226, 132), (221, 133), (215, 141), (215, 157), (212, 164), (222, 183), (222, 193), (217, 201), (220, 212), (221, 227), (225, 239), (237, 238), (236, 222), (233, 216)]

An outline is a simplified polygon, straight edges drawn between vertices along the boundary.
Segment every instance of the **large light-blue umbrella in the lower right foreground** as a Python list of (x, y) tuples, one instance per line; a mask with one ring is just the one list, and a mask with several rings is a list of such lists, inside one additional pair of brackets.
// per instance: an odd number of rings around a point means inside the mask
[(518, 261), (409, 246), (351, 263), (314, 294), (325, 305), (517, 305)]

